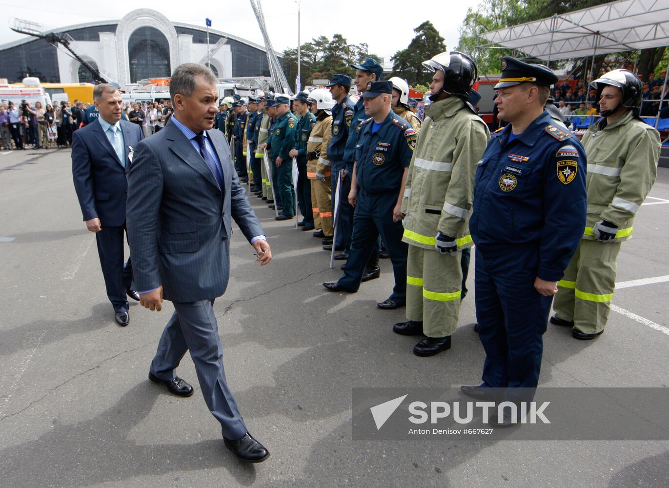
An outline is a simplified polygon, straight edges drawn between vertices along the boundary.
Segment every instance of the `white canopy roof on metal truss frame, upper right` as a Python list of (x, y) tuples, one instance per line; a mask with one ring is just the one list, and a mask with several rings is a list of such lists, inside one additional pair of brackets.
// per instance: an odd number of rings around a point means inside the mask
[[(669, 0), (619, 0), (480, 34), (547, 62), (669, 46)], [(664, 77), (666, 87), (668, 76)], [(660, 107), (664, 100), (664, 88)], [(656, 117), (657, 120), (660, 116)]]

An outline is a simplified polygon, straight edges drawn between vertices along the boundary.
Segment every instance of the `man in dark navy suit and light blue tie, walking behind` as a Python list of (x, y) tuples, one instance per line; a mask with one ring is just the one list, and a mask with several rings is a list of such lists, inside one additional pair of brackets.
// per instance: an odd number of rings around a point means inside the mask
[(72, 176), (86, 227), (96, 233), (107, 297), (118, 325), (128, 325), (128, 300), (139, 295), (131, 289), (132, 263), (123, 264), (126, 232), (128, 167), (132, 150), (144, 137), (142, 127), (121, 120), (123, 102), (117, 88), (99, 84), (93, 102), (100, 116), (72, 133)]

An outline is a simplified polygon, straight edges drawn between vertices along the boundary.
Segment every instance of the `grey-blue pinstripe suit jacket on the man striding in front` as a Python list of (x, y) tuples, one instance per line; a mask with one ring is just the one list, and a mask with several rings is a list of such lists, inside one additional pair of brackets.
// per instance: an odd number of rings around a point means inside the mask
[(231, 218), (247, 240), (264, 234), (220, 131), (207, 131), (223, 167), (211, 169), (175, 124), (138, 143), (130, 164), (127, 226), (140, 291), (193, 302), (220, 297), (229, 276)]

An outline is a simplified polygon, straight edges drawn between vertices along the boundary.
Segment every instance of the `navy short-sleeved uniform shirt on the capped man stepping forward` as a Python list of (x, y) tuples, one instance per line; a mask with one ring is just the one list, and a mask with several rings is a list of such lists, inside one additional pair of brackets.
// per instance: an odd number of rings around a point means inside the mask
[(360, 125), (355, 147), (358, 186), (368, 195), (398, 192), (403, 169), (411, 163), (417, 136), (411, 124), (392, 110), (374, 133), (373, 121), (368, 118)]

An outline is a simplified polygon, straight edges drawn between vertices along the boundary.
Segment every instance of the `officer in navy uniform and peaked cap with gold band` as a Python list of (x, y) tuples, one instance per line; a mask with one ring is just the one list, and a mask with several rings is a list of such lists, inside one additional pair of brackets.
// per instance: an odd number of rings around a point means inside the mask
[(478, 162), (469, 223), (486, 360), (482, 384), (462, 390), (475, 398), (504, 388), (504, 400), (531, 400), (557, 282), (583, 236), (587, 162), (579, 140), (544, 110), (555, 82), (545, 66), (504, 56), (494, 86), (508, 125)]

